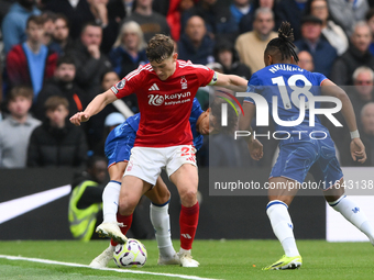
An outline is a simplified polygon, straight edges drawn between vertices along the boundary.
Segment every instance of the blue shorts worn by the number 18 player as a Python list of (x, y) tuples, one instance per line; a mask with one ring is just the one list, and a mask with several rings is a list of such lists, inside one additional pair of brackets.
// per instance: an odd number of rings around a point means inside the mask
[(285, 177), (302, 183), (308, 171), (322, 189), (343, 178), (330, 137), (280, 145), (270, 178)]

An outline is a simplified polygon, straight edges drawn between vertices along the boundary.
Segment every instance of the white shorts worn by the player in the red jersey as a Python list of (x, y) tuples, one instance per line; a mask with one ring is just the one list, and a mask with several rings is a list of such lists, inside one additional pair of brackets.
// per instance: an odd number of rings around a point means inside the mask
[(193, 145), (165, 148), (133, 147), (124, 176), (131, 175), (155, 184), (162, 168), (170, 177), (184, 164), (196, 166), (196, 149)]

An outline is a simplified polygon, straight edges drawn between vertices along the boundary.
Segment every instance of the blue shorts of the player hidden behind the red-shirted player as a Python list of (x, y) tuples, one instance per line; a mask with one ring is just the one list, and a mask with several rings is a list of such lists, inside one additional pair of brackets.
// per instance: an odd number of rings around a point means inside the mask
[(129, 161), (134, 146), (136, 132), (128, 123), (122, 123), (112, 130), (106, 141), (108, 168), (120, 161)]

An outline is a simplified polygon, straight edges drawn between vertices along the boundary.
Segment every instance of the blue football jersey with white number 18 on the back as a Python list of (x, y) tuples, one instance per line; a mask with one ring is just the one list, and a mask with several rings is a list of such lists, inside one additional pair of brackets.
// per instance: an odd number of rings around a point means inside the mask
[[(307, 141), (309, 139), (308, 134), (312, 131), (323, 131), (328, 134), (327, 128), (322, 126), (318, 115), (315, 117), (315, 126), (309, 126), (308, 98), (321, 94), (320, 86), (324, 79), (327, 79), (324, 75), (309, 72), (297, 65), (275, 64), (253, 74), (248, 83), (246, 91), (257, 93), (265, 98), (273, 121), (274, 97), (276, 97), (277, 102), (277, 108), (275, 109), (277, 116), (282, 121), (290, 122), (298, 120), (300, 115), (300, 97), (304, 96), (306, 110), (305, 117), (300, 124), (294, 126), (283, 126), (275, 122), (274, 124), (275, 131), (288, 132), (289, 135), (292, 135), (288, 139), (282, 141), (282, 144)], [(258, 105), (252, 98), (245, 98), (244, 101)], [(320, 103), (316, 102), (315, 108), (320, 108)], [(302, 132), (302, 135), (300, 132)], [(279, 133), (277, 137), (284, 137), (284, 135)]]

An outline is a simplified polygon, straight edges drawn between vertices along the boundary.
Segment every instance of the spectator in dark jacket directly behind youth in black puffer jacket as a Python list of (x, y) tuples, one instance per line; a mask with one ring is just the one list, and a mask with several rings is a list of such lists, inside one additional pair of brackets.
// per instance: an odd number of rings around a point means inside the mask
[(45, 120), (44, 103), (52, 96), (66, 98), (69, 103), (69, 117), (82, 111), (87, 103), (87, 94), (75, 82), (76, 68), (72, 57), (62, 56), (57, 60), (57, 68), (53, 79), (46, 81), (38, 93), (34, 114), (40, 120)]

